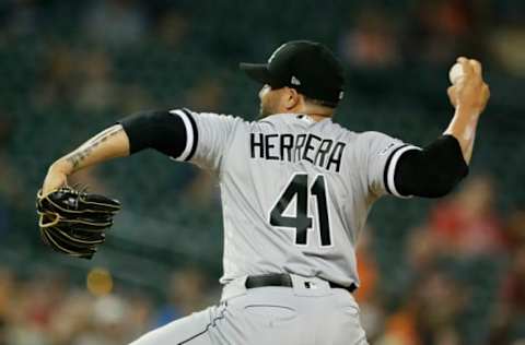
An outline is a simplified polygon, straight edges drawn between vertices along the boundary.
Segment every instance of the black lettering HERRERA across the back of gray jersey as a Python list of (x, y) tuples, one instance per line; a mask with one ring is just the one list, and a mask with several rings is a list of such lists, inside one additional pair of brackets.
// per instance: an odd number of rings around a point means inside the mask
[(343, 142), (334, 142), (315, 134), (250, 133), (252, 158), (268, 160), (306, 160), (327, 170), (339, 172)]

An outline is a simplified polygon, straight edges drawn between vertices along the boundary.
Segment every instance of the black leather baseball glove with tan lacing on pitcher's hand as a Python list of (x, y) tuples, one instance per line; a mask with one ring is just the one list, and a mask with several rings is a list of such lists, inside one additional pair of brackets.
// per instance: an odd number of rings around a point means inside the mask
[(36, 194), (42, 239), (56, 251), (77, 258), (93, 257), (119, 210), (117, 200), (70, 187), (45, 197), (42, 197), (42, 190)]

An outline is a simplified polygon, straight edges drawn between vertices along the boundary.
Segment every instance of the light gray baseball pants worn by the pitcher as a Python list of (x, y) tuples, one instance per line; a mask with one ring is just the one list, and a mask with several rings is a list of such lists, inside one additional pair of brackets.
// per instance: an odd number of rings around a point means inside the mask
[[(221, 304), (151, 331), (131, 345), (366, 345), (352, 295), (291, 275), (293, 287), (224, 286)], [(306, 284), (305, 284), (306, 283)]]

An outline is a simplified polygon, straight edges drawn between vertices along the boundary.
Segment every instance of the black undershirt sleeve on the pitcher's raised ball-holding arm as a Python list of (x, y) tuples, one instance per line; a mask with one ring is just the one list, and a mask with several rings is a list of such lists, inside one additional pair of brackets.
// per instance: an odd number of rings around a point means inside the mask
[(453, 135), (442, 135), (423, 150), (405, 152), (396, 165), (394, 182), (401, 195), (440, 198), (467, 175), (459, 142)]

